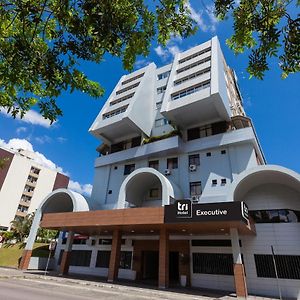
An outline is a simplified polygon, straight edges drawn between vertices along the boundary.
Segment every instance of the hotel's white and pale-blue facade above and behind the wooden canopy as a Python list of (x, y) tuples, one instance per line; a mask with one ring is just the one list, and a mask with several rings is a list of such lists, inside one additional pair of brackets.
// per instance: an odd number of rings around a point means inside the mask
[[(151, 63), (123, 76), (90, 132), (103, 141), (95, 160), (90, 210), (164, 206), (174, 199), (244, 201), (252, 213), (273, 210), (278, 214), (276, 222), (262, 221), (256, 224), (256, 235), (239, 236), (248, 292), (278, 296), (279, 284), (283, 296), (300, 299), (299, 270), (282, 275), (278, 282), (258, 274), (258, 268), (264, 267), (258, 259), (269, 259), (271, 246), (279, 259), (300, 262), (300, 176), (266, 165), (243, 110), (237, 78), (216, 37), (176, 55), (167, 66), (157, 68)], [(280, 219), (287, 211), (299, 212), (298, 220), (295, 213), (293, 220)], [(233, 276), (193, 270), (193, 254), (234, 252), (228, 245), (195, 246), (194, 240), (221, 243), (230, 241), (229, 235), (170, 236), (190, 241), (192, 286), (234, 291)], [(97, 252), (110, 250), (109, 245), (98, 244), (101, 238), (110, 237), (94, 236), (87, 245), (74, 245), (74, 250), (92, 254), (89, 266), (71, 266), (70, 272), (107, 275), (107, 269), (96, 267)], [(122, 238), (126, 240), (122, 251), (134, 251), (132, 240), (158, 240), (159, 236)], [(57, 259), (62, 249), (59, 243)], [(132, 268), (120, 272), (121, 278), (135, 279)]]

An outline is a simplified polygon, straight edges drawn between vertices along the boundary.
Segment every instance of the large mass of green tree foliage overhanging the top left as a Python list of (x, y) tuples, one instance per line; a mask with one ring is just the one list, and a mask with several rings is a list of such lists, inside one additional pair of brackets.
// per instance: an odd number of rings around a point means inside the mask
[(100, 97), (99, 83), (81, 61), (120, 57), (131, 70), (153, 39), (195, 32), (185, 0), (0, 0), (0, 108), (12, 116), (38, 106), (51, 122), (62, 115), (57, 98), (82, 91)]

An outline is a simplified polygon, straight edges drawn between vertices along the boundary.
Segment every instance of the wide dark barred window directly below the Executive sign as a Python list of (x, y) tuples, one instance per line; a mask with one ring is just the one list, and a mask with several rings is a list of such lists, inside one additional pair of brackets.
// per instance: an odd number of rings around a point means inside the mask
[(193, 273), (233, 275), (233, 256), (223, 253), (193, 253)]

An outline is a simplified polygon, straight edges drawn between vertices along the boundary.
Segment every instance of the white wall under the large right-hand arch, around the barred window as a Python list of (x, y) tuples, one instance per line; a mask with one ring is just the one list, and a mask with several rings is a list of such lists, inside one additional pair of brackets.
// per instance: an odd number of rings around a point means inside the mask
[[(300, 210), (300, 195), (280, 184), (265, 184), (245, 196), (249, 210), (294, 209)], [(247, 286), (250, 293), (278, 297), (277, 280), (258, 278), (254, 254), (300, 255), (300, 223), (256, 224), (255, 237), (242, 237)], [(279, 279), (285, 297), (300, 299), (300, 280)]]

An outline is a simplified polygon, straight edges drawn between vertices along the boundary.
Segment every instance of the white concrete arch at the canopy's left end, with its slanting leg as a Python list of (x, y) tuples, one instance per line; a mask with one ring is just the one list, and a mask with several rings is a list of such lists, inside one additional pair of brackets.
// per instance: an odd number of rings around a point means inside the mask
[(32, 250), (44, 213), (89, 210), (89, 205), (82, 195), (68, 189), (57, 189), (53, 191), (41, 202), (35, 212), (25, 250)]

